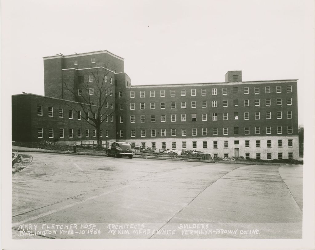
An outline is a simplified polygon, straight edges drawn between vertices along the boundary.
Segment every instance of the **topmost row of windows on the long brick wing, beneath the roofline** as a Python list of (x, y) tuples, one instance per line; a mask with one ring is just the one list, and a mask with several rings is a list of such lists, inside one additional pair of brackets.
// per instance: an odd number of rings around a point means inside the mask
[[(254, 94), (260, 94), (260, 87), (254, 87), (253, 88), (253, 93)], [(276, 93), (281, 93), (282, 92), (282, 86), (276, 86)], [(291, 93), (292, 92), (292, 86), (287, 85), (286, 86), (286, 92)], [(190, 95), (191, 96), (196, 96), (196, 89), (191, 89), (190, 90)], [(222, 88), (222, 95), (227, 95), (227, 88)], [(244, 87), (243, 88), (243, 93), (249, 94), (249, 87)], [(271, 93), (271, 87), (266, 86), (265, 87), (265, 93), (270, 94)], [(212, 88), (211, 89), (211, 94), (213, 96), (217, 95), (217, 88)], [(233, 87), (233, 94), (238, 94), (238, 87)], [(207, 89), (201, 89), (201, 95), (206, 96), (207, 95)], [(176, 90), (172, 89), (170, 90), (170, 96), (175, 97), (176, 96)], [(181, 89), (180, 90), (180, 96), (186, 96), (186, 89)], [(140, 91), (140, 98), (145, 97), (145, 91)], [(155, 90), (150, 90), (150, 97), (155, 97)], [(160, 97), (165, 97), (165, 90), (160, 90)], [(135, 91), (130, 91), (130, 98), (135, 98)]]

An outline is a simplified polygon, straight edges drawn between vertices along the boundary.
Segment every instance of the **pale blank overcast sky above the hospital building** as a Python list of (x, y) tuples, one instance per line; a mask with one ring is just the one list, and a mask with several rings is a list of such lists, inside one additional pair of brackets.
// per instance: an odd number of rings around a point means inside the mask
[(303, 124), (304, 2), (4, 0), (11, 94), (44, 94), (44, 56), (108, 50), (132, 85), (299, 79)]

